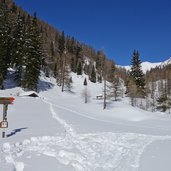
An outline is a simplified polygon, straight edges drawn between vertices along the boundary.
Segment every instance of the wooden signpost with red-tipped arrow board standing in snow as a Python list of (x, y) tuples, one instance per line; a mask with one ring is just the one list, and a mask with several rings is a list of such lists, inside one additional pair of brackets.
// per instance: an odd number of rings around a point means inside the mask
[(0, 122), (0, 128), (3, 128), (2, 138), (5, 138), (5, 128), (8, 128), (8, 121), (7, 121), (7, 110), (8, 105), (13, 104), (15, 98), (14, 97), (0, 97), (0, 104), (3, 105), (3, 118)]

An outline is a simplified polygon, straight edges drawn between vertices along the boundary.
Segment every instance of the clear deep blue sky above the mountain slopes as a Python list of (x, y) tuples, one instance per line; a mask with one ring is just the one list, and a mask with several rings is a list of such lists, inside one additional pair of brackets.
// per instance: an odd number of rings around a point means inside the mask
[(171, 56), (171, 0), (14, 0), (30, 14), (67, 35), (103, 49), (129, 65), (133, 50), (142, 61)]

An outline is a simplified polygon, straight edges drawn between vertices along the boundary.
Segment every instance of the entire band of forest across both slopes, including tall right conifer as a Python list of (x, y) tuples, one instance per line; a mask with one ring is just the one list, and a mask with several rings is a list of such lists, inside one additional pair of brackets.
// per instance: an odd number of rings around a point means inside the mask
[(143, 73), (137, 50), (130, 61), (129, 71), (118, 67), (102, 50), (65, 35), (11, 0), (0, 0), (0, 89), (9, 68), (16, 86), (35, 91), (41, 71), (54, 77), (62, 92), (72, 87), (71, 73), (85, 74), (91, 82), (103, 83), (104, 109), (107, 99), (126, 96), (132, 106), (170, 111), (171, 64)]

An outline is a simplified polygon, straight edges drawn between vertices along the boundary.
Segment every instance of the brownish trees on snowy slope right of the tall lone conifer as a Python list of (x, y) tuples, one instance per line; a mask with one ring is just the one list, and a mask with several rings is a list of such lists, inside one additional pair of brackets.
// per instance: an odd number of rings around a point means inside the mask
[(171, 64), (161, 65), (146, 73), (147, 92), (152, 110), (171, 112)]

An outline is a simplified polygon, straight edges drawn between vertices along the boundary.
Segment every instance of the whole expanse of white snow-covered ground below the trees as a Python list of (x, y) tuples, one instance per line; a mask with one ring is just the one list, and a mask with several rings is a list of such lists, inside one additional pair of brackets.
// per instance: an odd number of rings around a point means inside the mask
[(0, 138), (0, 171), (170, 171), (170, 116), (133, 108), (126, 99), (103, 110), (98, 83), (88, 82), (85, 104), (84, 78), (73, 75), (72, 91), (61, 93), (42, 77), (37, 98), (20, 88), (0, 91), (16, 99), (7, 137)]

